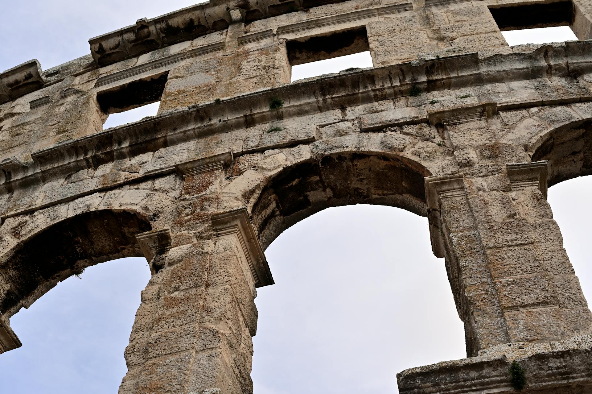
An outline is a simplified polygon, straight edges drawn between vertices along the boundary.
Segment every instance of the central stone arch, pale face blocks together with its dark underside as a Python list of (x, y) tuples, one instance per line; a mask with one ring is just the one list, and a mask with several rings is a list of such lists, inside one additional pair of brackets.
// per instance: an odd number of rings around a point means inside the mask
[[(246, 207), (265, 249), (289, 226), (327, 207), (382, 204), (427, 216), (423, 178), (456, 171), (452, 152), (432, 142), (392, 132), (337, 137), (266, 152), (255, 168), (244, 171), (221, 191), (218, 211)], [(291, 182), (301, 174), (310, 175), (300, 182), (307, 197), (297, 196), (304, 206), (292, 205), (291, 212), (286, 207), (284, 213), (278, 212), (274, 189), (287, 191), (284, 186), (291, 186), (291, 193), (297, 194)], [(358, 180), (339, 186), (340, 177)]]

